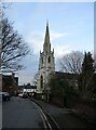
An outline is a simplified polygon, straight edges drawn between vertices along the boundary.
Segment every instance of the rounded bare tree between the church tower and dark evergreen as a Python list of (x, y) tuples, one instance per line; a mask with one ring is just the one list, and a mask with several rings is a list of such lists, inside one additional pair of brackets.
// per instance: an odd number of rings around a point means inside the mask
[(80, 74), (83, 62), (83, 53), (80, 51), (71, 52), (60, 60), (61, 70), (65, 73)]

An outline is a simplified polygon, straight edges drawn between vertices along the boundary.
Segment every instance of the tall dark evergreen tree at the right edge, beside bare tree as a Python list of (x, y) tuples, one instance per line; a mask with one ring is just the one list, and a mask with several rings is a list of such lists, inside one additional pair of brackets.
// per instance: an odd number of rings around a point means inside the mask
[(84, 96), (90, 98), (92, 94), (92, 81), (94, 77), (94, 60), (91, 52), (84, 54), (84, 60), (82, 64), (82, 73), (80, 75), (80, 90)]

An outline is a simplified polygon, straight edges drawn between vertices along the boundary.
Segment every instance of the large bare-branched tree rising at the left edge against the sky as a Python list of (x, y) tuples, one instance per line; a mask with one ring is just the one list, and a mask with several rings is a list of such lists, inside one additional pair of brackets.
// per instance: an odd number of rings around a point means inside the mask
[(20, 61), (29, 53), (29, 48), (23, 37), (13, 29), (8, 18), (1, 20), (1, 66), (10, 69), (22, 69)]

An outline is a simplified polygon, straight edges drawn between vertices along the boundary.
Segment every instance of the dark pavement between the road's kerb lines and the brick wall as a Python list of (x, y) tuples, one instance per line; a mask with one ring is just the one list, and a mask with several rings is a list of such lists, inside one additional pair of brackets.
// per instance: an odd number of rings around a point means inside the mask
[(46, 112), (52, 119), (56, 122), (59, 129), (96, 129), (96, 125), (92, 123), (92, 121), (82, 118), (82, 116), (78, 115), (74, 109), (66, 108), (66, 107), (57, 107), (53, 104), (46, 103), (41, 100), (31, 99), (35, 103), (40, 105), (44, 112)]

